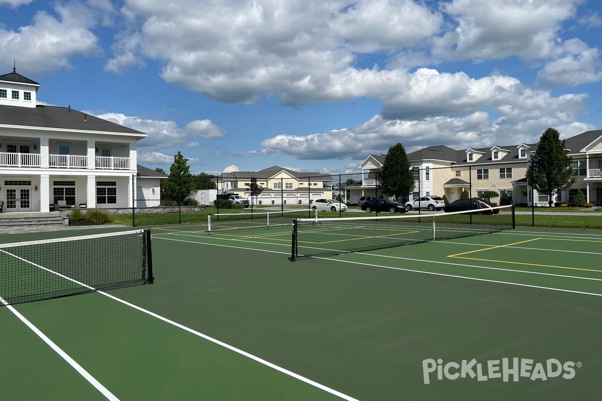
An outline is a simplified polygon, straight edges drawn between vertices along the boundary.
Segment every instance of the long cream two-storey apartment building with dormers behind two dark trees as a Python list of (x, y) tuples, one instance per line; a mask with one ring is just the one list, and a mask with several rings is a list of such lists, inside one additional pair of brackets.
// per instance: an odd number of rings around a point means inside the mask
[[(505, 192), (515, 204), (547, 206), (547, 194), (531, 191), (527, 185), (527, 167), (538, 144), (494, 145), (471, 147), (464, 150), (438, 145), (422, 148), (408, 154), (414, 171), (415, 188), (407, 200), (438, 195), (453, 202), (463, 191), (473, 197), (484, 192)], [(576, 178), (571, 188), (554, 196), (558, 203), (570, 202), (582, 191), (588, 203), (602, 206), (602, 130), (592, 130), (566, 139), (566, 154), (570, 156)], [(379, 190), (378, 174), (386, 155), (370, 155), (359, 167), (361, 186), (352, 189), (354, 199), (374, 195)], [(533, 197), (532, 197), (533, 194)], [(498, 198), (491, 198), (498, 202)], [(401, 201), (406, 201), (402, 197)]]

